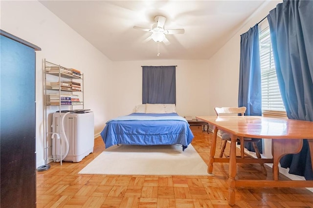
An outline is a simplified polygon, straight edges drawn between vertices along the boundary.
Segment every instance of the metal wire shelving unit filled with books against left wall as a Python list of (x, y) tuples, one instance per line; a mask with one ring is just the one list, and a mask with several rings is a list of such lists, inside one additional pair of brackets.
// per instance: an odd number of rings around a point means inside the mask
[[(67, 68), (44, 60), (44, 126), (45, 164), (48, 163), (48, 150), (52, 150), (52, 131), (49, 113), (56, 111), (84, 109), (84, 75), (79, 70)], [(51, 121), (50, 121), (51, 120)], [(60, 121), (61, 123), (61, 121)], [(61, 131), (62, 131), (62, 126)], [(62, 165), (62, 161), (61, 161)]]

